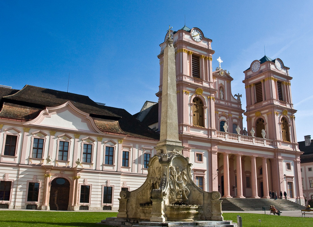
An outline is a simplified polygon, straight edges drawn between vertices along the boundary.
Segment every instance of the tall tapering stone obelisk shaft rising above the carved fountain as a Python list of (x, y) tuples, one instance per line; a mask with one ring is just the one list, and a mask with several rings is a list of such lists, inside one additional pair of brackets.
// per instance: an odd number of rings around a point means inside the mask
[(163, 56), (160, 141), (155, 148), (157, 153), (167, 154), (174, 149), (181, 153), (183, 147), (178, 139), (175, 48), (171, 37), (167, 38)]

